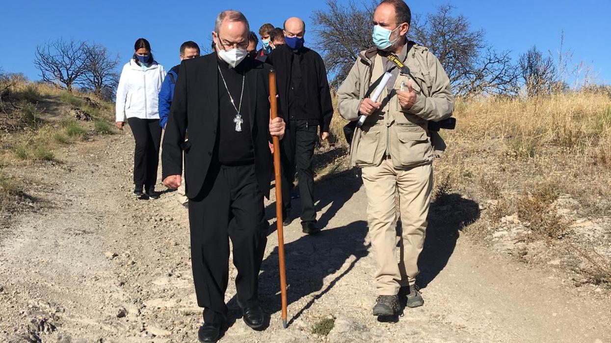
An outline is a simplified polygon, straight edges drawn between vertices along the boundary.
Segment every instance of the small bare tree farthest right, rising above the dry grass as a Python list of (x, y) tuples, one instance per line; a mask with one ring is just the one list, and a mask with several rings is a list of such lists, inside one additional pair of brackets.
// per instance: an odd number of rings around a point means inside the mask
[(520, 56), (519, 67), (529, 97), (549, 94), (557, 84), (554, 59), (544, 57), (536, 46)]

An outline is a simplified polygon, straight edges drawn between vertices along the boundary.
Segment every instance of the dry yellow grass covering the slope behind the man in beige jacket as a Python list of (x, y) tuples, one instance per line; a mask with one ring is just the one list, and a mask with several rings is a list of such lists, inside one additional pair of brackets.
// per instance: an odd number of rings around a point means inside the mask
[[(441, 131), (448, 149), (434, 163), (434, 199), (451, 192), (480, 204), (480, 218), (466, 231), (477, 240), (505, 225), (503, 217), (517, 215), (532, 233), (530, 242), (554, 242), (558, 251), (577, 242), (571, 257), (590, 266), (579, 273), (588, 282), (611, 282), (611, 266), (596, 262), (609, 257), (595, 251), (610, 242), (588, 244), (555, 206), (562, 195), (579, 203), (579, 218), (611, 216), (604, 205), (611, 199), (611, 94), (457, 99), (454, 115), (456, 130)], [(342, 146), (345, 124), (338, 115), (331, 123)]]

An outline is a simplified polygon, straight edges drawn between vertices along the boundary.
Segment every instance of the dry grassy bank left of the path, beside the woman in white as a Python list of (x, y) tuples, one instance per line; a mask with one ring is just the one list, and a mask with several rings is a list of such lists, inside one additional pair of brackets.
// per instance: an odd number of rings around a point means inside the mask
[[(3, 151), (8, 161), (54, 161), (55, 151), (85, 136), (113, 133), (111, 103), (90, 94), (67, 92), (53, 86), (18, 79), (8, 103), (0, 108)], [(93, 120), (76, 120), (75, 111)]]

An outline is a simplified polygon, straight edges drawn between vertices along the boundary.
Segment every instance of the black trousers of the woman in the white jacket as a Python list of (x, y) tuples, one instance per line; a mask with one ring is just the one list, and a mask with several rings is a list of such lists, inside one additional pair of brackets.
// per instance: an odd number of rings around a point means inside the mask
[(145, 190), (157, 183), (161, 127), (159, 119), (128, 118), (136, 140), (134, 150), (134, 185), (144, 185)]

